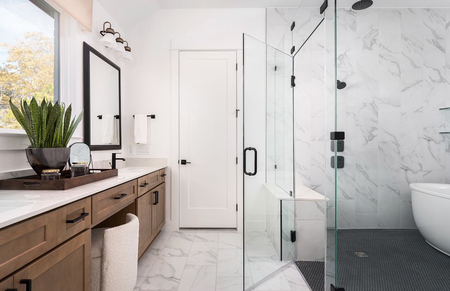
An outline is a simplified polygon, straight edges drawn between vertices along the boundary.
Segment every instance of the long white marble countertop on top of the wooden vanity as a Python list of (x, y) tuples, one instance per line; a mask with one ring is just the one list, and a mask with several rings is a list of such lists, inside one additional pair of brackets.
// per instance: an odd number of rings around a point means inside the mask
[(158, 161), (145, 167), (123, 168), (119, 169), (117, 177), (64, 191), (0, 190), (0, 228), (142, 177), (166, 166), (166, 162)]

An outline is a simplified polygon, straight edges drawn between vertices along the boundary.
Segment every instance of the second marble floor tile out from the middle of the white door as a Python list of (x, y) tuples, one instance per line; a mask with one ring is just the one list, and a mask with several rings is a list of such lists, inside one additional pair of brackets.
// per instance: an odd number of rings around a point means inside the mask
[(193, 266), (217, 265), (217, 242), (192, 242), (187, 264)]

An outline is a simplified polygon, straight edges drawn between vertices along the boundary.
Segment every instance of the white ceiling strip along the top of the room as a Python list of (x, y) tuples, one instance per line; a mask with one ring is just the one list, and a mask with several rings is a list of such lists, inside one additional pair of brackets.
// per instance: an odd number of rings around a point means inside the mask
[[(338, 7), (351, 7), (357, 0), (337, 0)], [(158, 9), (319, 7), (324, 0), (98, 0), (124, 30)], [(450, 7), (450, 0), (373, 0), (373, 8)]]

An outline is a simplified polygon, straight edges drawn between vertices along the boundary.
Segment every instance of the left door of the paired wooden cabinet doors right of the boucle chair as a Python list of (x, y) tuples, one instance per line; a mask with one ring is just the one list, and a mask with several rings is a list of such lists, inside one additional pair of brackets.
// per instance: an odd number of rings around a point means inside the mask
[(147, 192), (136, 199), (136, 215), (139, 218), (139, 257), (155, 237), (153, 232), (153, 192)]

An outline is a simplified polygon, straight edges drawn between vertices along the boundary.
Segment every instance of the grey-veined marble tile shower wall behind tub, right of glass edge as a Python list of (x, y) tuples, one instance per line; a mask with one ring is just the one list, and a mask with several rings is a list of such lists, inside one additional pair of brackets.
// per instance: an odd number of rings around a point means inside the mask
[(339, 9), (337, 25), (338, 227), (416, 227), (409, 184), (450, 182), (450, 10)]

